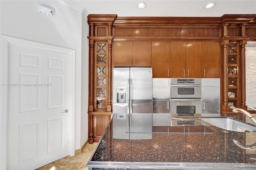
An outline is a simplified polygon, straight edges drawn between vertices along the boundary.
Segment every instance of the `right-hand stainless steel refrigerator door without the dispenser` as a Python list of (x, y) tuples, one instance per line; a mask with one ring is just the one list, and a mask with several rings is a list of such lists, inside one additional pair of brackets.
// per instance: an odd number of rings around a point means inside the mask
[(130, 113), (152, 113), (152, 68), (130, 68)]

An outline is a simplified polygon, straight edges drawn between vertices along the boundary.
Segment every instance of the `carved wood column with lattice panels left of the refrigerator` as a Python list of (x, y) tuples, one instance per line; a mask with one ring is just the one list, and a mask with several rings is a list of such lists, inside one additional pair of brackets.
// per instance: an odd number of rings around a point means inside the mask
[(116, 14), (89, 14), (89, 143), (98, 142), (112, 114), (112, 25)]

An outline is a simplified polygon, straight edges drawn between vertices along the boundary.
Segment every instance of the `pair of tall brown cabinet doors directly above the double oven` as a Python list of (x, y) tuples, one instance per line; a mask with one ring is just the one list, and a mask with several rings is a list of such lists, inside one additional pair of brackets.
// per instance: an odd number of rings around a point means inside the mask
[(171, 77), (202, 77), (202, 42), (171, 42)]

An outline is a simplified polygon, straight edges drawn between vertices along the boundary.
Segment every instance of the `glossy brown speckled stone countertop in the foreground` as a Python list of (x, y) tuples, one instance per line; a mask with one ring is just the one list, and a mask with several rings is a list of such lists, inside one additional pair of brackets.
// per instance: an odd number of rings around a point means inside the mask
[(194, 124), (186, 120), (158, 124), (151, 123), (148, 132), (129, 133), (129, 120), (114, 115), (88, 169), (256, 169), (256, 149), (243, 149), (233, 142), (254, 144), (256, 133), (224, 131), (200, 119)]

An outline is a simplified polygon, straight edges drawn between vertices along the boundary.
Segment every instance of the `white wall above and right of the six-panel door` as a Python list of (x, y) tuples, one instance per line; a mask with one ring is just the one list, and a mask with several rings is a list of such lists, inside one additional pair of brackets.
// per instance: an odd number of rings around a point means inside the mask
[[(80, 149), (88, 138), (88, 128), (84, 128), (88, 127), (87, 103), (82, 104), (83, 112), (81, 115), (81, 67), (88, 67), (87, 61), (83, 62), (83, 66), (81, 65), (82, 20), (84, 21), (82, 11), (75, 10), (56, 0), (0, 0), (0, 4), (0, 30), (2, 35), (56, 45), (76, 51), (75, 149)], [(38, 4), (47, 4), (55, 8), (54, 16), (50, 17), (39, 13)], [(83, 25), (85, 28), (83, 32), (88, 32), (86, 24)], [(84, 49), (84, 47), (88, 48), (88, 43), (83, 37), (83, 53), (88, 56), (88, 52), (84, 51), (87, 48)], [(85, 79), (88, 79), (87, 74), (83, 75), (83, 82), (87, 84), (83, 85), (82, 95), (88, 93), (86, 92), (86, 90), (88, 91), (88, 80)], [(88, 95), (86, 97), (88, 98)], [(84, 97), (84, 101), (88, 101), (86, 97)]]

